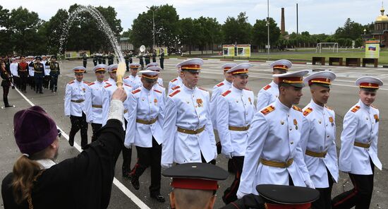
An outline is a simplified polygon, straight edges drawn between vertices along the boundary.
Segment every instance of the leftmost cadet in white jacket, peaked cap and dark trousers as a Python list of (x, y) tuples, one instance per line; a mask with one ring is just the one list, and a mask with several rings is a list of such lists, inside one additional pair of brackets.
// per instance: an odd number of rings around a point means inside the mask
[(66, 85), (65, 92), (65, 116), (70, 117), (71, 130), (68, 134), (68, 143), (74, 145), (74, 136), (81, 130), (81, 148), (87, 145), (87, 122), (85, 109), (85, 93), (87, 82), (83, 81), (83, 66), (73, 68), (75, 80)]

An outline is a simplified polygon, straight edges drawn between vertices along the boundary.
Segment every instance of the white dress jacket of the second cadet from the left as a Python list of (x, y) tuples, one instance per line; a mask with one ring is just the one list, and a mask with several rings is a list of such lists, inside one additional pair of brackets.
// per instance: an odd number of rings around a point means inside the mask
[(89, 83), (85, 94), (85, 109), (87, 123), (102, 124), (102, 89), (104, 81)]

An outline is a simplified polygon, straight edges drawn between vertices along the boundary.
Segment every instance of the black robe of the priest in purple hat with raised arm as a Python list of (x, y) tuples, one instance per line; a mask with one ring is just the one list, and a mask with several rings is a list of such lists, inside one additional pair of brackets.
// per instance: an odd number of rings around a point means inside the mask
[[(108, 208), (125, 133), (121, 122), (111, 119), (98, 135), (77, 157), (59, 162), (37, 177), (31, 195), (34, 208)], [(28, 201), (15, 203), (12, 181), (10, 173), (1, 184), (4, 208), (29, 208)]]

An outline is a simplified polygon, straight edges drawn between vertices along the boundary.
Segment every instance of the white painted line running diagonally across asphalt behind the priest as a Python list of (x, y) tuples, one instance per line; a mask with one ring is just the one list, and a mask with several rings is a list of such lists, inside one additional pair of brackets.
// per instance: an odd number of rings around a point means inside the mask
[[(20, 90), (18, 90), (18, 88), (15, 88), (15, 89), (31, 106), (35, 106), (35, 104), (32, 103), (30, 100), (28, 100), (28, 98), (25, 97), (25, 95), (23, 95), (23, 93), (20, 92)], [(65, 133), (65, 131), (63, 131), (61, 128), (59, 128), (59, 126), (56, 126), (56, 127), (61, 131), (62, 136), (66, 138), (66, 140), (68, 141), (68, 134)], [(78, 145), (77, 143), (74, 143), (74, 148), (77, 149), (78, 152), (80, 153), (82, 152), (80, 145)], [(114, 178), (113, 184), (116, 185), (117, 188), (119, 188), (128, 198), (130, 198), (131, 201), (133, 201), (133, 203), (138, 205), (139, 208), (150, 209), (150, 207), (148, 207), (145, 203), (143, 203), (143, 201), (141, 201), (137, 196), (135, 196), (135, 194), (132, 193), (128, 188), (126, 188), (126, 186), (124, 186), (124, 184), (122, 184), (118, 179)]]

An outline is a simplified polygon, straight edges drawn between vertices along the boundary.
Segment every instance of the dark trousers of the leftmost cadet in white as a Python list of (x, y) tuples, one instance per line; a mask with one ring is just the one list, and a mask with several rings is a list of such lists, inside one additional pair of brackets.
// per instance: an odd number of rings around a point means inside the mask
[(71, 130), (68, 135), (68, 141), (74, 143), (75, 133), (81, 130), (81, 148), (85, 148), (87, 145), (87, 122), (86, 115), (83, 112), (82, 117), (76, 117), (71, 115)]

